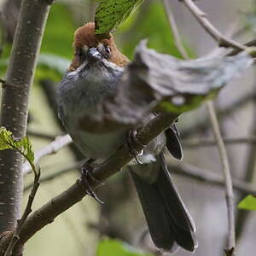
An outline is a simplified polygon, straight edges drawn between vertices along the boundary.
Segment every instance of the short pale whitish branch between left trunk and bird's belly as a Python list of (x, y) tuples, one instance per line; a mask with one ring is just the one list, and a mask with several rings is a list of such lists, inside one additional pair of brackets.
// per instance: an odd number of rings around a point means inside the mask
[[(61, 136), (61, 137), (57, 137), (54, 142), (49, 143), (44, 148), (35, 152), (35, 160), (34, 160), (35, 165), (38, 164), (38, 161), (42, 157), (44, 157), (46, 155), (49, 155), (49, 154), (55, 154), (58, 150), (67, 146), (70, 143), (72, 143), (72, 139), (68, 134), (66, 134), (64, 136)], [(23, 164), (23, 166), (22, 166), (23, 174), (26, 174), (26, 173), (31, 172), (31, 171), (32, 171), (32, 168), (31, 168), (31, 165), (28, 162)]]

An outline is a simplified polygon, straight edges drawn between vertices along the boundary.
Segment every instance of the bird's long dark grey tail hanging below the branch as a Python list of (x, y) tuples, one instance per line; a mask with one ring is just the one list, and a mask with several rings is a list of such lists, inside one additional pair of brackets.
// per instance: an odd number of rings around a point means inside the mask
[[(143, 173), (148, 168), (151, 172), (152, 167), (158, 169), (154, 170), (158, 177), (148, 183)], [(164, 156), (161, 154), (154, 163), (129, 168), (155, 246), (166, 252), (173, 252), (178, 246), (194, 252), (195, 224), (172, 183)]]

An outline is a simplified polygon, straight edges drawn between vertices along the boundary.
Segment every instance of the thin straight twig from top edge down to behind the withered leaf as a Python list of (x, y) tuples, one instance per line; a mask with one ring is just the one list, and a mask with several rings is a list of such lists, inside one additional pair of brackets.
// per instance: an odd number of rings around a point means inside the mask
[(172, 9), (170, 7), (170, 4), (168, 4), (170, 2), (168, 2), (167, 0), (163, 0), (163, 3), (164, 3), (164, 6), (165, 6), (165, 9), (166, 9), (166, 15), (167, 15), (167, 18), (169, 20), (169, 24), (172, 28), (172, 33), (173, 33), (173, 37), (174, 37), (174, 44), (176, 45), (179, 53), (183, 56), (183, 59), (188, 60), (189, 55), (187, 53), (187, 50), (183, 46), (182, 39), (181, 39), (180, 34), (178, 32), (178, 29), (177, 29), (176, 21), (173, 17), (173, 14), (172, 14)]

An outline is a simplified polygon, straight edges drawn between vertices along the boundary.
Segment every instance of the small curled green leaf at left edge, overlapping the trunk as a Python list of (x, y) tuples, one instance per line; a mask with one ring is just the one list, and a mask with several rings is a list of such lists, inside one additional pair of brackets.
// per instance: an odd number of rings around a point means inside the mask
[(5, 127), (0, 127), (0, 150), (15, 149), (22, 154), (26, 160), (32, 162), (34, 160), (34, 153), (32, 151), (32, 144), (28, 137), (15, 139), (11, 131), (7, 131)]

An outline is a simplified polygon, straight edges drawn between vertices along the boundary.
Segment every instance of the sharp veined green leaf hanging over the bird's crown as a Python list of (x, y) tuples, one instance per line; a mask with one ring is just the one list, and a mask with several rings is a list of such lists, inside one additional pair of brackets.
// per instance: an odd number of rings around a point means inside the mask
[(100, 0), (96, 9), (96, 34), (113, 32), (143, 0)]

